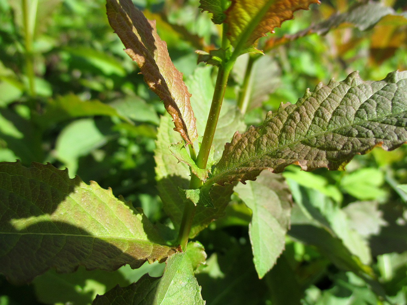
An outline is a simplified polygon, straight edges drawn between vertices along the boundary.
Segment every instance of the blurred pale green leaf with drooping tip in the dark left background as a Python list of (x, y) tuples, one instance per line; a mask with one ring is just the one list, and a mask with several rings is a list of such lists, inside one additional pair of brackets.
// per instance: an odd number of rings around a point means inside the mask
[(66, 126), (57, 138), (55, 157), (69, 168), (70, 174), (76, 174), (78, 158), (86, 156), (94, 149), (106, 144), (109, 133), (112, 132), (103, 126), (96, 125), (91, 118), (80, 119)]

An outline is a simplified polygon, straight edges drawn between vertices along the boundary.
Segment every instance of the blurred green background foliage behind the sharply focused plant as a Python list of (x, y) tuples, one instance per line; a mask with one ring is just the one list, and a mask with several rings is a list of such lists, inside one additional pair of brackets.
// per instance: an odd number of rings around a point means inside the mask
[[(199, 0), (133, 2), (157, 21), (158, 33), (185, 77), (197, 67), (195, 50), (219, 46), (221, 28), (199, 11)], [(309, 11), (296, 12), (272, 35), (296, 33), (357, 3), (322, 0)], [(398, 13), (407, 11), (405, 0), (381, 3)], [(169, 224), (155, 187), (153, 160), (165, 109), (123, 52), (107, 22), (105, 2), (0, 0), (0, 46), (0, 161), (67, 167), (71, 176), (112, 187), (153, 222)], [(235, 103), (247, 61), (243, 56), (236, 63), (226, 102)], [(245, 122), (260, 124), (267, 111), (281, 102), (294, 103), (321, 81), (342, 80), (354, 70), (365, 80), (380, 80), (397, 69), (407, 70), (403, 16), (385, 16), (363, 31), (341, 24), (326, 35), (307, 35), (255, 62)], [(357, 156), (345, 172), (289, 167), (284, 175), (296, 203), (291, 231), (286, 250), (263, 280), (252, 263), (251, 212), (237, 196), (225, 217), (198, 235), (209, 257), (197, 275), (207, 304), (363, 305), (381, 304), (385, 298), (406, 304), (406, 146), (393, 152), (375, 148)], [(305, 230), (316, 224), (318, 230)], [(380, 287), (352, 273), (349, 261), (340, 261), (341, 247), (371, 268)], [(0, 277), (0, 305), (90, 304), (116, 284), (128, 285), (145, 272), (160, 275), (163, 268), (127, 267), (117, 272), (80, 268), (70, 275), (49, 271), (22, 287)]]

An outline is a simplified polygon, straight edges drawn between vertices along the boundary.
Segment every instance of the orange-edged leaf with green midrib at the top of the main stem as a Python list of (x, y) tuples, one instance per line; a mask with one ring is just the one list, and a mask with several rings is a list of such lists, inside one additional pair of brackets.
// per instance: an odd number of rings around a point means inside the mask
[(308, 9), (311, 3), (319, 0), (232, 0), (225, 19), (228, 38), (239, 51), (245, 50), (283, 21), (292, 19), (294, 11)]

